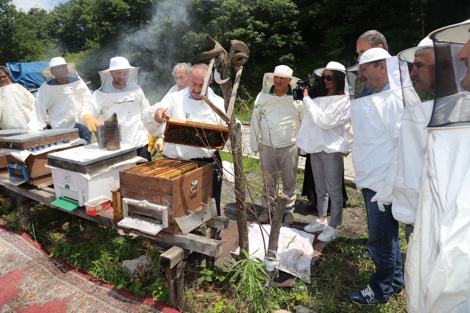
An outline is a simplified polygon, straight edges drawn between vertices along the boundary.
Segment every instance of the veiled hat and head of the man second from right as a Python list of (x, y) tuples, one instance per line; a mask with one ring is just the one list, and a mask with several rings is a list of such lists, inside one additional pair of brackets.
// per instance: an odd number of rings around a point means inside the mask
[(404, 107), (434, 99), (435, 58), (432, 40), (398, 54)]

